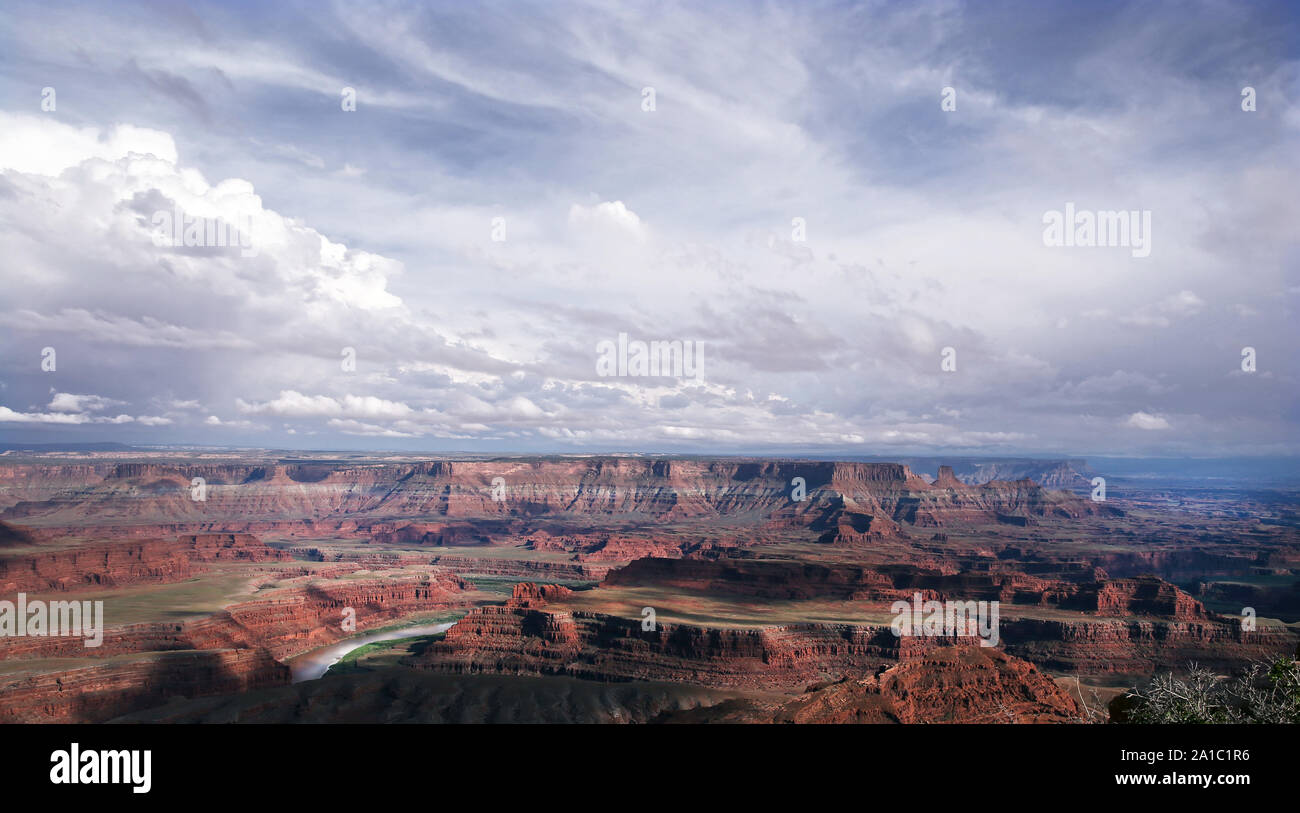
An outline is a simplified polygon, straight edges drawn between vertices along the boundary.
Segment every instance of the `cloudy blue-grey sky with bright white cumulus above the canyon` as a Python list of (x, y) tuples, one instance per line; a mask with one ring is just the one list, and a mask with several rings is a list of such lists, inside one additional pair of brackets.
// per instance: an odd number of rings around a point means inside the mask
[(6, 3), (0, 441), (1300, 453), (1300, 14), (1052, 5)]

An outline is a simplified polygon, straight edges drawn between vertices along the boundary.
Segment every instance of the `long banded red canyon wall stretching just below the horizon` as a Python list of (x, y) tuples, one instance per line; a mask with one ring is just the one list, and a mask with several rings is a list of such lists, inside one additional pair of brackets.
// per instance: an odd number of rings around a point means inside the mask
[[(190, 498), (192, 477), (204, 480), (204, 501)], [(499, 501), (493, 498), (495, 477), (506, 483)], [(807, 490), (798, 502), (792, 500), (796, 477)], [(771, 516), (777, 527), (801, 524), (846, 537), (868, 529), (887, 535), (900, 524), (940, 527), (948, 519), (996, 522), (1100, 510), (1030, 480), (972, 486), (948, 476), (932, 485), (894, 463), (644, 458), (358, 466), (23, 463), (0, 466), (0, 509), (6, 522), (43, 527), (152, 524), (172, 532), (285, 533), (342, 529), (358, 518), (368, 527), (420, 516), (688, 520), (748, 514)], [(454, 523), (410, 531), (386, 526), (380, 532), (421, 544), (430, 533), (459, 535), (452, 537), (456, 544), (476, 535)]]

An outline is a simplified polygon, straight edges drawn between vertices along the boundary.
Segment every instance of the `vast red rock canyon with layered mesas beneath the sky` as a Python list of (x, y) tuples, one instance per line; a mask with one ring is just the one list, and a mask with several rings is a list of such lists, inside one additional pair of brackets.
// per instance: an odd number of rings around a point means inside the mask
[[(94, 650), (0, 637), (0, 719), (143, 719), (164, 704), (176, 719), (285, 719), (240, 717), (240, 699), (304, 693), (325, 715), (373, 709), (344, 700), (347, 682), (438, 686), (485, 719), (485, 687), (545, 684), (576, 704), (563, 715), (604, 722), (1078, 722), (1060, 680), (1131, 686), (1296, 649), (1290, 497), (1095, 502), (1078, 460), (932, 471), (4, 453), (0, 593), (103, 600), (108, 627)], [(996, 479), (1024, 472), (1075, 490)], [(894, 635), (889, 607), (913, 596), (1000, 602), (998, 646)], [(289, 686), (303, 653), (430, 619), (456, 623)], [(627, 718), (594, 713), (599, 692), (575, 688), (588, 684), (627, 687)]]

